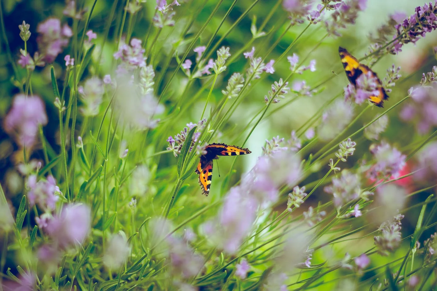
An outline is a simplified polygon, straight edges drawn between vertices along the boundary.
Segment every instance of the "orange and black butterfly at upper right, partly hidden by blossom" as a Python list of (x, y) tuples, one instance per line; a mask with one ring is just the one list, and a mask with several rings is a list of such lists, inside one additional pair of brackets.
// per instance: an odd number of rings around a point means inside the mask
[(385, 93), (384, 88), (382, 87), (381, 80), (379, 80), (378, 76), (374, 71), (372, 71), (368, 66), (361, 64), (358, 60), (352, 56), (346, 49), (342, 47), (338, 47), (338, 54), (340, 55), (341, 62), (343, 63), (343, 68), (346, 71), (347, 79), (352, 85), (357, 87), (357, 79), (361, 74), (367, 74), (371, 72), (372, 77), (375, 78), (378, 83), (378, 96), (370, 96), (369, 100), (371, 103), (375, 104), (378, 107), (383, 107), (384, 100), (388, 99), (388, 95)]

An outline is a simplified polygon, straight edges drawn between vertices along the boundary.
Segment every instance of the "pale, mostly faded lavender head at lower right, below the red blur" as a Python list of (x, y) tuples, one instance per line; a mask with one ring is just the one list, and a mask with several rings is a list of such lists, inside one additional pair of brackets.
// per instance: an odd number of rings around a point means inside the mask
[(396, 215), (392, 220), (383, 222), (378, 231), (381, 232), (380, 236), (375, 236), (375, 245), (378, 249), (378, 253), (382, 256), (388, 256), (399, 246), (401, 242), (401, 219), (404, 218), (402, 214)]

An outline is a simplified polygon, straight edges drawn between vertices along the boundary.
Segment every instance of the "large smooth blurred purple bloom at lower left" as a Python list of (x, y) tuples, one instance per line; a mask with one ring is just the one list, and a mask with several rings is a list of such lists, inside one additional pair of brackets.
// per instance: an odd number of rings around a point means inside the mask
[(69, 246), (82, 244), (90, 231), (91, 210), (83, 204), (69, 204), (62, 208), (60, 214), (53, 216), (44, 231), (65, 249)]

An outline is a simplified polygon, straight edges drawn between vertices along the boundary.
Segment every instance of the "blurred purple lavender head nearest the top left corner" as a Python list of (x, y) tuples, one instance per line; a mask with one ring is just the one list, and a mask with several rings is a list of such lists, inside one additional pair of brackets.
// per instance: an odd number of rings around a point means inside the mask
[(57, 18), (49, 18), (38, 24), (36, 31), (39, 33), (36, 38), (39, 51), (44, 56), (44, 61), (49, 63), (62, 52), (73, 35), (69, 26), (64, 24), (61, 27), (61, 21)]

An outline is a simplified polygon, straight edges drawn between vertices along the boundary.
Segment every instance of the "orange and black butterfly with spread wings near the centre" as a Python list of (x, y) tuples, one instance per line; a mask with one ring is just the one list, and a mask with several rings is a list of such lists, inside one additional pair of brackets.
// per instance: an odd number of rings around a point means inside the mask
[(235, 145), (225, 145), (224, 143), (212, 143), (207, 145), (205, 150), (206, 154), (200, 157), (196, 173), (199, 174), (199, 184), (202, 188), (202, 194), (208, 196), (212, 180), (212, 160), (218, 159), (218, 156), (247, 155), (250, 154), (251, 151)]

